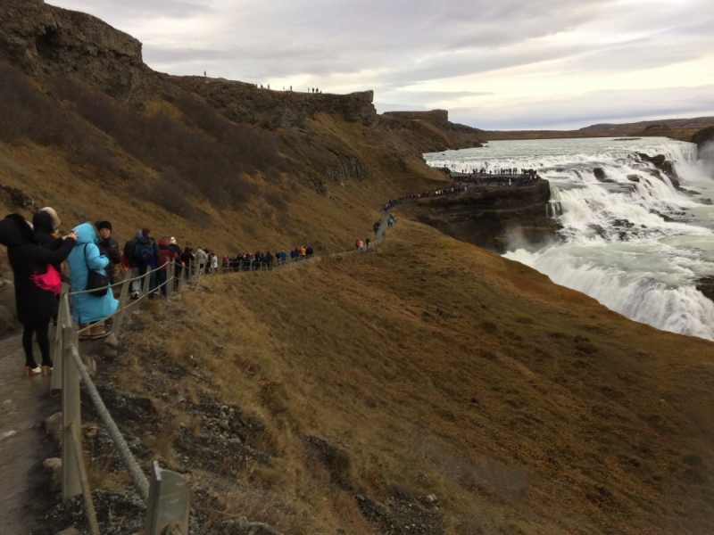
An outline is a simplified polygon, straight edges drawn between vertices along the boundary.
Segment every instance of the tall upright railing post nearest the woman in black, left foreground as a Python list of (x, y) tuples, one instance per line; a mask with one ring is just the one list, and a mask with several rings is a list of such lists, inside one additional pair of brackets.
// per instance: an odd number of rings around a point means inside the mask
[(72, 345), (79, 344), (77, 327), (62, 325), (62, 499), (82, 493), (79, 479), (78, 453), (72, 440), (72, 426), (81, 429), (82, 418), (79, 405), (79, 370), (71, 355)]

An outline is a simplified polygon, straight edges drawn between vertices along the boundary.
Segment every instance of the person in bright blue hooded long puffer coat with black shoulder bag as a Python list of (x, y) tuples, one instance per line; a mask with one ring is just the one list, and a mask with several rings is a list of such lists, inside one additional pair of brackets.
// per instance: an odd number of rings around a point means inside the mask
[[(90, 223), (82, 223), (72, 230), (77, 233), (77, 243), (72, 249), (67, 263), (70, 266), (71, 292), (80, 292), (87, 289), (87, 276), (89, 269), (105, 274), (104, 268), (109, 264), (109, 259), (100, 254), (97, 243), (95, 227)], [(98, 322), (116, 311), (119, 301), (114, 299), (112, 292), (106, 292), (102, 297), (91, 293), (80, 293), (72, 297), (72, 315), (74, 320), (83, 328), (87, 324)], [(107, 333), (100, 323), (93, 326), (83, 338), (102, 338)]]

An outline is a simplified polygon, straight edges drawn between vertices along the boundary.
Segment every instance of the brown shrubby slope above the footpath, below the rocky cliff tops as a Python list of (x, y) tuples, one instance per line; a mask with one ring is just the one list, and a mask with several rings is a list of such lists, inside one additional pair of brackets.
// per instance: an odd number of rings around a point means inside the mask
[(63, 229), (106, 218), (120, 242), (149, 226), (221, 253), (334, 251), (364, 239), (386, 199), (444, 180), (339, 114), (266, 130), (176, 86), (155, 86), (137, 108), (76, 78), (0, 71), (0, 185), (54, 206)]

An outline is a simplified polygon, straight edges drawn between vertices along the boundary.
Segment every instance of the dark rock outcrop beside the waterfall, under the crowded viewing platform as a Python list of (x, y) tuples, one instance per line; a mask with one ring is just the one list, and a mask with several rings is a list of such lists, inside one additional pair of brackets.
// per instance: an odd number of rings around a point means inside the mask
[(519, 187), (474, 187), (456, 196), (423, 198), (407, 205), (408, 217), (433, 226), (461, 242), (503, 253), (537, 249), (555, 237), (548, 218), (547, 180)]

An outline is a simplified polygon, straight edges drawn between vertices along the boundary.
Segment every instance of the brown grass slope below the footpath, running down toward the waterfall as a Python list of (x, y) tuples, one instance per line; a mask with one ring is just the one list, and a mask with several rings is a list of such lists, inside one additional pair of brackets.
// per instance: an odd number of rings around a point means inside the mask
[(205, 284), (153, 310), (113, 383), (265, 422), (267, 461), (186, 460), (218, 497), (207, 532), (245, 514), (286, 533), (714, 531), (711, 342), (411, 222), (365, 254)]

